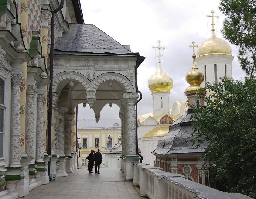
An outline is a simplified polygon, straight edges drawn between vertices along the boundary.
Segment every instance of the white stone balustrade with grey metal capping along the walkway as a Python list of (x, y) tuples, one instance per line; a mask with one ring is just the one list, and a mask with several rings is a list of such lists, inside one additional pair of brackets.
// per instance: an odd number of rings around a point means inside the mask
[(184, 175), (162, 171), (139, 162), (133, 163), (133, 185), (149, 199), (253, 199), (239, 193), (226, 193), (190, 181)]

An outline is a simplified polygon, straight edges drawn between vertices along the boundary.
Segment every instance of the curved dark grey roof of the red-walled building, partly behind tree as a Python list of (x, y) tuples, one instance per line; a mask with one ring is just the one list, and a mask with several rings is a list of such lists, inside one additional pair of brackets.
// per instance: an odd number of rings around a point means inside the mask
[(201, 147), (197, 148), (192, 144), (185, 143), (186, 140), (191, 140), (193, 137), (192, 124), (190, 121), (193, 113), (181, 116), (170, 127), (167, 135), (162, 137), (153, 154), (184, 154), (184, 153), (202, 153), (207, 146), (207, 142), (204, 142)]

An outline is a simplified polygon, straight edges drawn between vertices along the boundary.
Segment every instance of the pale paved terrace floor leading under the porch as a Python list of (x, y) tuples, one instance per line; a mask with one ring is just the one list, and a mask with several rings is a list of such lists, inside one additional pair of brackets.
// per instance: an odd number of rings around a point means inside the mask
[(19, 199), (141, 199), (139, 188), (132, 183), (125, 181), (118, 168), (100, 168), (100, 174), (89, 174), (84, 167)]

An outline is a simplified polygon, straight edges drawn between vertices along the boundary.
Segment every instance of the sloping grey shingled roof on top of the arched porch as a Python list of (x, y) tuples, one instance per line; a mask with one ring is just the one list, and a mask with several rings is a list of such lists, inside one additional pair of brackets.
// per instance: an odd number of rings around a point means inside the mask
[(91, 24), (69, 24), (69, 29), (54, 44), (54, 55), (102, 54), (140, 56)]

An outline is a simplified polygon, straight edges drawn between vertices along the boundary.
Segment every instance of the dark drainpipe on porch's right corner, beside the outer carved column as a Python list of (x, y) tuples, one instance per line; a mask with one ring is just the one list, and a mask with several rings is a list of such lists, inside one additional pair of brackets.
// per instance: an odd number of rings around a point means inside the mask
[(142, 99), (142, 93), (141, 91), (138, 90), (138, 82), (137, 82), (137, 69), (140, 66), (140, 64), (145, 60), (144, 56), (139, 56), (137, 61), (136, 61), (136, 66), (135, 66), (135, 88), (136, 92), (140, 93), (140, 98), (136, 101), (135, 103), (135, 112), (136, 112), (136, 130), (135, 130), (135, 136), (136, 136), (136, 154), (139, 155), (140, 157), (140, 163), (142, 163), (143, 157), (141, 154), (139, 154), (139, 149), (138, 149), (138, 106), (137, 103), (140, 102)]

